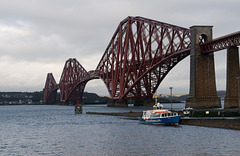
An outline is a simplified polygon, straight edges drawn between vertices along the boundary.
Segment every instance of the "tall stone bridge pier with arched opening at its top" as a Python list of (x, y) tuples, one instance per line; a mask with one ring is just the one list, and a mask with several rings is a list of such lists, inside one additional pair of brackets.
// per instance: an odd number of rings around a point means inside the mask
[(190, 55), (190, 94), (186, 107), (221, 107), (217, 96), (214, 54), (201, 54), (200, 42), (212, 40), (212, 26), (192, 26)]

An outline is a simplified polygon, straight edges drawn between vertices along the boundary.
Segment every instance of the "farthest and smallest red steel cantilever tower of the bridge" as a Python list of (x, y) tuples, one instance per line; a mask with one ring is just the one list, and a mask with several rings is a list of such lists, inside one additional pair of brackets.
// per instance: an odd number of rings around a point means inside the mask
[(44, 99), (43, 102), (47, 103), (56, 103), (58, 84), (56, 83), (53, 74), (48, 73), (47, 79), (44, 87)]

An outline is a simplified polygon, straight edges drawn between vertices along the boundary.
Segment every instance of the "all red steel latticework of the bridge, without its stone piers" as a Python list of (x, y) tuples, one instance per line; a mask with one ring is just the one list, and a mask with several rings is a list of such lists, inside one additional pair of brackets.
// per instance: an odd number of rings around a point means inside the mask
[[(202, 53), (240, 45), (240, 32), (200, 43)], [(201, 38), (201, 40), (207, 40)], [(189, 29), (142, 17), (120, 22), (96, 70), (87, 72), (76, 59), (66, 61), (61, 80), (61, 101), (82, 98), (86, 83), (101, 78), (112, 99), (151, 99), (168, 72), (190, 54)], [(48, 74), (44, 102), (58, 85)]]

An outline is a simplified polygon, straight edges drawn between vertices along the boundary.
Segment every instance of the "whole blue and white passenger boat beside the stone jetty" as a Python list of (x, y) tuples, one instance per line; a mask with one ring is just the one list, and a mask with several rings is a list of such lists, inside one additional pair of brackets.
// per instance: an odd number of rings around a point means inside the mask
[(178, 125), (181, 116), (177, 112), (162, 108), (160, 103), (155, 104), (153, 110), (143, 111), (139, 121), (145, 124)]

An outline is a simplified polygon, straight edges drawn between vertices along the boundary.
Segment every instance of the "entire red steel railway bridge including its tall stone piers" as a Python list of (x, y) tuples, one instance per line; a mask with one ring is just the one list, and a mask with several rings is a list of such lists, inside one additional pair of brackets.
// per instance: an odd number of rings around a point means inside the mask
[(220, 107), (217, 97), (214, 52), (227, 49), (225, 107), (239, 107), (238, 80), (240, 32), (212, 39), (212, 26), (190, 29), (143, 17), (122, 20), (95, 70), (86, 71), (75, 58), (66, 61), (57, 84), (48, 73), (44, 102), (82, 101), (88, 81), (102, 79), (111, 100), (108, 106), (152, 105), (152, 96), (169, 71), (190, 55), (190, 94), (186, 106)]

